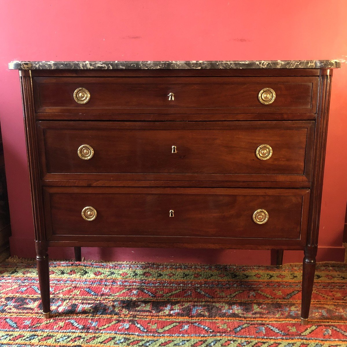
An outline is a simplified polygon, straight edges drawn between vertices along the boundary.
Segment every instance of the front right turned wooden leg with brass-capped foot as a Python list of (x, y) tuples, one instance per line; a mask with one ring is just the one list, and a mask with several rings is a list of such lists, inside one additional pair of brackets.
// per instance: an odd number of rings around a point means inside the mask
[(310, 313), (314, 272), (316, 269), (316, 247), (306, 247), (303, 261), (303, 281), (301, 296), (301, 324), (308, 323)]

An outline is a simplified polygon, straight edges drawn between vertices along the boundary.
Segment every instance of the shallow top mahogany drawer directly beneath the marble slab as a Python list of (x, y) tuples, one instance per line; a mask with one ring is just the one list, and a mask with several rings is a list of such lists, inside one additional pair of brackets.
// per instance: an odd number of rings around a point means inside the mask
[(315, 113), (318, 94), (318, 77), (302, 76), (34, 77), (33, 85), (38, 113)]

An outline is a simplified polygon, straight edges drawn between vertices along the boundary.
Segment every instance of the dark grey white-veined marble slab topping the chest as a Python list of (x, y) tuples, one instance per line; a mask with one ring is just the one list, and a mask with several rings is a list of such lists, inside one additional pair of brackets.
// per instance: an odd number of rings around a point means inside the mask
[(331, 69), (338, 60), (244, 60), (244, 61), (11, 61), (17, 70), (173, 70), (173, 69)]

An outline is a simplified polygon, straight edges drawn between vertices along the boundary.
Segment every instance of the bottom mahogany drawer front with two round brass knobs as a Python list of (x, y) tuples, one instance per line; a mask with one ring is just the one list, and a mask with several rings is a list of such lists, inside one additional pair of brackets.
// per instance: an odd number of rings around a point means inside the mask
[(309, 195), (308, 189), (44, 187), (46, 230), (50, 241), (302, 245)]

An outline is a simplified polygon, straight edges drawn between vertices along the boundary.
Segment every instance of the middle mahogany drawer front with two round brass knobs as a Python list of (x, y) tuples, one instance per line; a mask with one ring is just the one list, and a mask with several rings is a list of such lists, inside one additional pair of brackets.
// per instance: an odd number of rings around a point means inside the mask
[(37, 122), (43, 179), (308, 182), (313, 129), (313, 121)]

